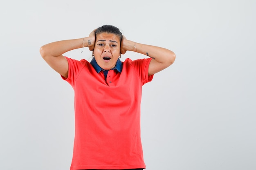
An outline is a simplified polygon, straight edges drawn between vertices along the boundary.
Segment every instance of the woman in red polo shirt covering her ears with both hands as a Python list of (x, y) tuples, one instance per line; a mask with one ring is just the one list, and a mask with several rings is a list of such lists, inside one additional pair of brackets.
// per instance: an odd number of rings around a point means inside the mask
[[(91, 62), (63, 53), (88, 47)], [(145, 59), (119, 60), (126, 51)], [(43, 59), (75, 94), (75, 138), (70, 170), (146, 168), (140, 137), (141, 88), (170, 66), (175, 54), (127, 40), (115, 26), (104, 25), (86, 38), (63, 40), (40, 48)]]

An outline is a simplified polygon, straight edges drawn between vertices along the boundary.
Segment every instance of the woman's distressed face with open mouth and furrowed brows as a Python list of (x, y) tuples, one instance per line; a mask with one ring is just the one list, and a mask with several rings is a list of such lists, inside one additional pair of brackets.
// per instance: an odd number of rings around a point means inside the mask
[(114, 68), (120, 53), (120, 39), (112, 33), (97, 34), (94, 46), (94, 57), (104, 70)]

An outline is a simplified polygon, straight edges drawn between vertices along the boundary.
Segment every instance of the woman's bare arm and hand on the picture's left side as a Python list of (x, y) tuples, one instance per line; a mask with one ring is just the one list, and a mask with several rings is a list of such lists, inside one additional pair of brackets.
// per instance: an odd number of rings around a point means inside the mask
[(89, 49), (92, 50), (94, 47), (94, 40), (94, 31), (92, 31), (87, 38), (63, 40), (45, 44), (40, 48), (40, 54), (49, 66), (63, 77), (67, 78), (68, 63), (63, 54), (67, 51), (83, 48), (83, 46), (88, 46)]

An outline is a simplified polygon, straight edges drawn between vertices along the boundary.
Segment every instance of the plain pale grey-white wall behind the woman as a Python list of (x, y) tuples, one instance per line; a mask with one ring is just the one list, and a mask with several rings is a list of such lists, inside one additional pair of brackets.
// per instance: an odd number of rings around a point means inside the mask
[[(104, 24), (176, 54), (143, 86), (147, 170), (256, 169), (255, 8), (253, 0), (2, 2), (1, 169), (69, 169), (74, 93), (39, 48), (86, 37)], [(91, 52), (65, 55), (90, 60)]]

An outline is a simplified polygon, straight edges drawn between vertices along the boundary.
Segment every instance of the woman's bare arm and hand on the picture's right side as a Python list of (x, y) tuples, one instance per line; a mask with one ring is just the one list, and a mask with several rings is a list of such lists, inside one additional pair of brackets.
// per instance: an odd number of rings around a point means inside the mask
[(127, 40), (124, 36), (121, 44), (121, 53), (124, 54), (126, 51), (135, 51), (147, 55), (153, 58), (149, 64), (148, 75), (153, 75), (164, 68), (171, 66), (175, 61), (175, 53), (173, 51), (164, 49), (158, 46), (151, 46), (146, 44), (139, 44)]

